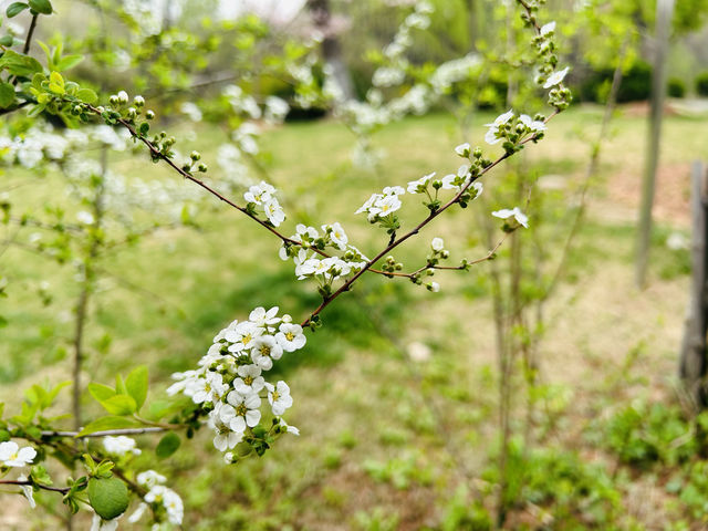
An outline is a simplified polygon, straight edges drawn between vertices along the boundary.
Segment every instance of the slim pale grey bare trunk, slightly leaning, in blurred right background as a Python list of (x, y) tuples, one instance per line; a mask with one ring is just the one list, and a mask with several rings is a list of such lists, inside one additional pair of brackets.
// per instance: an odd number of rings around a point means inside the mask
[(642, 207), (639, 210), (639, 231), (637, 239), (636, 284), (646, 285), (646, 269), (649, 260), (649, 240), (652, 236), (652, 206), (656, 187), (656, 168), (659, 160), (662, 139), (662, 115), (666, 97), (666, 52), (671, 29), (674, 0), (657, 0), (656, 35), (654, 39), (654, 73), (652, 79), (652, 117), (649, 140), (646, 153), (644, 184), (642, 186)]

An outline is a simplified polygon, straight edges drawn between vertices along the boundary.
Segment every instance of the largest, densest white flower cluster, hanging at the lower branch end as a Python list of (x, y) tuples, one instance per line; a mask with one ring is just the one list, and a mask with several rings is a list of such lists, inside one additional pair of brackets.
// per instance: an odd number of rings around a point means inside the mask
[[(214, 446), (220, 451), (232, 449), (259, 426), (262, 398), (274, 417), (292, 406), (288, 384), (270, 384), (262, 373), (284, 353), (302, 348), (305, 341), (302, 327), (290, 315), (278, 316), (278, 306), (257, 308), (248, 321), (233, 321), (215, 336), (199, 368), (173, 375), (177, 382), (167, 393), (183, 393), (208, 408)], [(296, 428), (288, 431), (296, 433)]]

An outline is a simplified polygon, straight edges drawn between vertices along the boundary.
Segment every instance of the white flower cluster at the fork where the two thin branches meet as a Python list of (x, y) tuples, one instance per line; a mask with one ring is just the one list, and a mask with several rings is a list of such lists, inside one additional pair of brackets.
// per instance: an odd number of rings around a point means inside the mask
[[(300, 223), (290, 239), (299, 244), (281, 247), (280, 258), (292, 258), (298, 280), (315, 279), (323, 285), (331, 285), (334, 280), (360, 272), (368, 261), (358, 249), (348, 244), (346, 232), (339, 222), (323, 225), (322, 235), (314, 227)], [(327, 248), (344, 251), (344, 254), (322, 258), (317, 250)]]

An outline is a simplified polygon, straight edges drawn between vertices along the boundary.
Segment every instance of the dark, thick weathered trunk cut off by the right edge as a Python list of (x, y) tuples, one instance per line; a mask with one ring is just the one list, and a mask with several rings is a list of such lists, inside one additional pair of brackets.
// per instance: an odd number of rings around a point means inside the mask
[(693, 281), (690, 301), (686, 317), (686, 330), (681, 344), (679, 375), (686, 391), (696, 406), (701, 409), (708, 404), (705, 386), (706, 377), (706, 331), (708, 330), (708, 173), (702, 164), (694, 163), (691, 171)]

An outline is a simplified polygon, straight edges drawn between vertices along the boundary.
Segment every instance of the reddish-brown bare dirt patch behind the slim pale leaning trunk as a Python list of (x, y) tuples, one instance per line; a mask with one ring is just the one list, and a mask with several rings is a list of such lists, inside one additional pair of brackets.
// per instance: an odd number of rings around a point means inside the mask
[[(634, 218), (642, 201), (641, 173), (620, 171), (607, 181), (607, 199), (631, 209)], [(656, 176), (654, 219), (671, 226), (690, 225), (690, 163), (660, 166)]]

